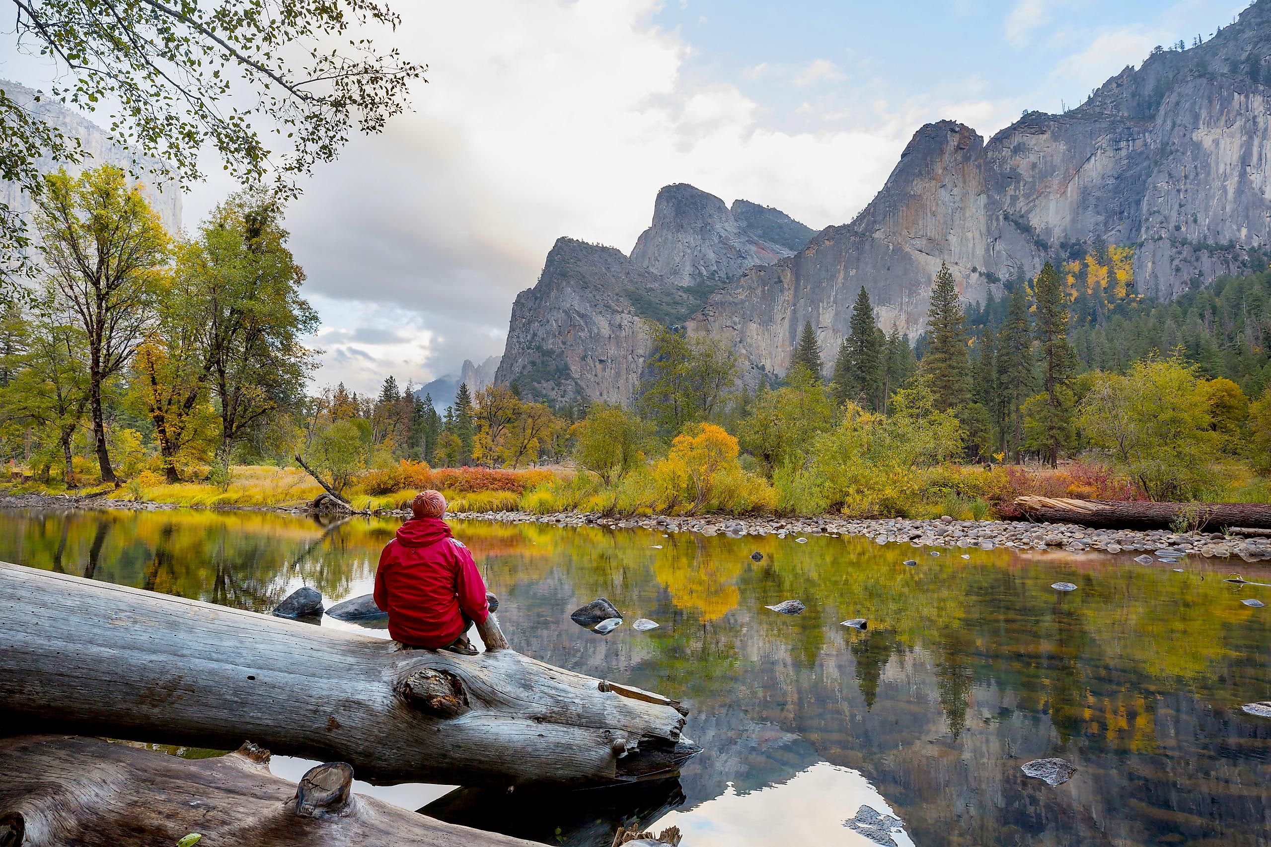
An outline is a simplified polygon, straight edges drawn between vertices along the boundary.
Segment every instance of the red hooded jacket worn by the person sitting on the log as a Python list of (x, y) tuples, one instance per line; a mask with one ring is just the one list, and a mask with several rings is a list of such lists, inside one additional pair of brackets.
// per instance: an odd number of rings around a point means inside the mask
[(375, 604), (389, 613), (389, 636), (402, 644), (444, 648), (489, 616), (486, 582), (468, 547), (441, 518), (403, 523), (380, 554)]

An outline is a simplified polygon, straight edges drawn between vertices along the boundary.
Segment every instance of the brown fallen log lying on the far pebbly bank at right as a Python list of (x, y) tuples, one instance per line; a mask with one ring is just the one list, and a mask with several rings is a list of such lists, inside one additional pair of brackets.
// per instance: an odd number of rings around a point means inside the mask
[(1233, 526), (1271, 528), (1271, 505), (1265, 503), (1150, 503), (1018, 497), (1016, 508), (1033, 521), (1078, 523), (1084, 527), (1169, 528), (1181, 518), (1188, 530), (1214, 531)]

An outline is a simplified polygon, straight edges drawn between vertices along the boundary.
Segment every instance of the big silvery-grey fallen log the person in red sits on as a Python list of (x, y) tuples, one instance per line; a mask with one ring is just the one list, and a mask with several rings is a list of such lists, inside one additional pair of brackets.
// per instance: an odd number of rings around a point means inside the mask
[(339, 759), (365, 780), (596, 785), (698, 747), (679, 704), (529, 659), (463, 657), (0, 563), (0, 726)]

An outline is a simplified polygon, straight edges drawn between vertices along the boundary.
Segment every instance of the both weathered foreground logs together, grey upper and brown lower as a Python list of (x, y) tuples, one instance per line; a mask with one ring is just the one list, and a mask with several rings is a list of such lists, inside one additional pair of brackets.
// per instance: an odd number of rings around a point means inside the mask
[[(529, 659), (497, 622), (482, 635), (478, 657), (409, 650), (0, 563), (0, 725), (17, 734), (0, 740), (0, 847), (527, 846), (353, 795), (353, 773), (590, 786), (698, 752), (677, 702)], [(328, 763), (295, 786), (264, 747)]]

